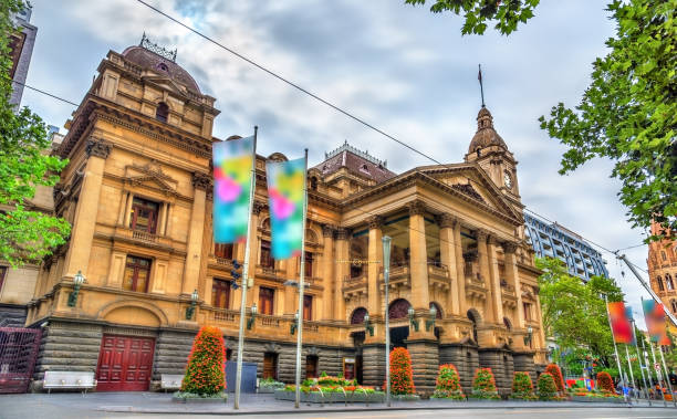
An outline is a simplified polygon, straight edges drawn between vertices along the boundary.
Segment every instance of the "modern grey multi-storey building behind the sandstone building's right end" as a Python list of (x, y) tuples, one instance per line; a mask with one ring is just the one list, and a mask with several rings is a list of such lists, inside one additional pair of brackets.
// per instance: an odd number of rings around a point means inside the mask
[(593, 275), (608, 276), (606, 261), (583, 238), (564, 227), (524, 213), (524, 237), (539, 258), (556, 258), (569, 273), (587, 281)]

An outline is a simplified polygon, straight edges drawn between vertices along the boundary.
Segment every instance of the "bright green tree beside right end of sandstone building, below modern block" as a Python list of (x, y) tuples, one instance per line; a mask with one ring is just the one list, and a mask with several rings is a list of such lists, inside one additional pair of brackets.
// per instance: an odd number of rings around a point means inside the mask
[(537, 259), (543, 271), (539, 276), (543, 327), (548, 336), (554, 336), (561, 349), (584, 348), (601, 364), (613, 364), (613, 341), (606, 316), (608, 301), (623, 301), (623, 292), (613, 279), (593, 276), (587, 283), (569, 274), (558, 259)]

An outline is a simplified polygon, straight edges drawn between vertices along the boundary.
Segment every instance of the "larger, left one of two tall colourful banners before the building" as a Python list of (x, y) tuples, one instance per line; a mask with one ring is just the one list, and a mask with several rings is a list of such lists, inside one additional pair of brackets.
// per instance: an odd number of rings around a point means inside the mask
[(213, 144), (213, 242), (247, 241), (253, 137)]

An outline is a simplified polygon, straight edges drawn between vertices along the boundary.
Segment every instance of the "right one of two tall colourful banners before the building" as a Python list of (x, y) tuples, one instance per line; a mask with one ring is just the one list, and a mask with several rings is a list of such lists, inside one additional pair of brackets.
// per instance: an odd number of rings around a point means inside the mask
[(265, 164), (273, 259), (301, 255), (305, 158)]

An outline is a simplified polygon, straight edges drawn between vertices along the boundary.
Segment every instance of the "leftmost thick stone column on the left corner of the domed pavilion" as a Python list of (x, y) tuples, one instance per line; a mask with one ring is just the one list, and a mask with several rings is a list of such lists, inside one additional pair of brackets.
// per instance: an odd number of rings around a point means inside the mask
[(87, 140), (86, 153), (88, 157), (77, 208), (75, 209), (75, 218), (73, 219), (71, 243), (65, 258), (63, 270), (65, 276), (72, 277), (77, 271), (82, 271), (85, 277), (87, 276), (104, 166), (111, 154), (111, 148), (108, 144), (102, 140)]

